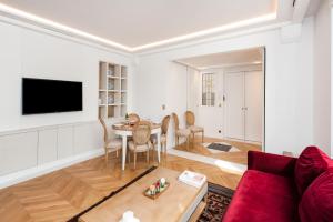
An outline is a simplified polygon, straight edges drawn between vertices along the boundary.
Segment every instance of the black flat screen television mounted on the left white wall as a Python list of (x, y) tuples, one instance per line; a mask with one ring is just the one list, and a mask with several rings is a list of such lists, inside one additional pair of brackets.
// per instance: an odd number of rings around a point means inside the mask
[(82, 111), (82, 82), (22, 79), (22, 114)]

